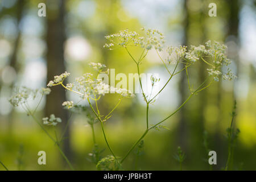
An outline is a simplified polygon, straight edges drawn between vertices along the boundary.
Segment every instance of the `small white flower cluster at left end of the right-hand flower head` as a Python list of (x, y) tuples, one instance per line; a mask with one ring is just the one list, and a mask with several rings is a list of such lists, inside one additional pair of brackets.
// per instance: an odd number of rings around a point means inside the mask
[(187, 51), (186, 46), (173, 47), (170, 46), (167, 48), (168, 57), (166, 59), (168, 64), (176, 64), (178, 60), (185, 57)]

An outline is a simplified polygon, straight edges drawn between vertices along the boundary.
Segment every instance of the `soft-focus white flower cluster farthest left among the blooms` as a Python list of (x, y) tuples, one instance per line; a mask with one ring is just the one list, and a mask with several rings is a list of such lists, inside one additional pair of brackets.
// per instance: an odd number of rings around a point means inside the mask
[(51, 92), (51, 89), (49, 88), (42, 88), (42, 89), (30, 89), (25, 86), (22, 87), (16, 87), (14, 88), (13, 96), (9, 99), (9, 102), (14, 107), (19, 106), (20, 104), (24, 104), (29, 99), (34, 100), (38, 93), (41, 93), (42, 95), (47, 95)]

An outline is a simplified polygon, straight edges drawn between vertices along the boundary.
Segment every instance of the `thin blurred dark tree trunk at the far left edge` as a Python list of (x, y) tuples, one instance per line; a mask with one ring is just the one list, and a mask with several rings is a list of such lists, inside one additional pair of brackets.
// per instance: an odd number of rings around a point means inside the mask
[[(17, 36), (16, 40), (14, 42), (13, 46), (13, 53), (10, 56), (10, 67), (15, 70), (16, 73), (18, 73), (18, 64), (17, 64), (17, 53), (18, 53), (18, 48), (19, 48), (19, 43), (20, 43), (20, 38), (21, 38), (21, 32), (19, 29), (19, 24), (20, 20), (22, 19), (22, 13), (24, 9), (24, 0), (19, 0), (16, 2), (16, 5), (14, 6), (14, 10), (16, 12), (16, 20), (17, 20)], [(11, 83), (10, 88), (13, 88), (14, 86), (14, 81)], [(11, 134), (11, 131), (13, 130), (13, 113), (9, 114), (9, 122), (8, 122), (8, 131)]]

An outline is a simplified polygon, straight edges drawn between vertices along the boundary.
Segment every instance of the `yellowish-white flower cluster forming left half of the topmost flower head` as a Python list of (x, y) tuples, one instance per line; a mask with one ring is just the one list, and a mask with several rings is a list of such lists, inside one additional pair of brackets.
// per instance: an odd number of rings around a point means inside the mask
[(129, 43), (133, 43), (135, 46), (137, 46), (138, 39), (137, 39), (138, 33), (137, 32), (129, 32), (128, 29), (119, 31), (117, 34), (107, 35), (105, 36), (106, 39), (110, 41), (110, 43), (105, 44), (105, 48), (113, 49), (113, 46), (119, 45), (119, 46), (127, 46)]

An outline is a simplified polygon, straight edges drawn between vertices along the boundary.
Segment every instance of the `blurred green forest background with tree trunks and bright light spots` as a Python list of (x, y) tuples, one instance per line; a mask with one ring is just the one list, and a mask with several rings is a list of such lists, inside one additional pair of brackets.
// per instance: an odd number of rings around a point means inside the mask
[[(46, 17), (38, 16), (38, 4), (44, 2)], [(208, 15), (209, 3), (217, 5), (217, 16)], [(204, 131), (209, 134), (209, 148), (217, 152), (217, 165), (222, 169), (228, 158), (226, 129), (230, 125), (233, 102), (237, 100), (235, 125), (241, 131), (234, 153), (233, 169), (255, 170), (256, 164), (256, 14), (254, 0), (164, 1), (164, 0), (0, 0), (0, 160), (11, 170), (69, 169), (42, 129), (22, 109), (9, 104), (13, 86), (46, 87), (49, 80), (64, 71), (72, 75), (68, 82), (85, 72), (88, 63), (100, 62), (117, 73), (136, 73), (136, 66), (123, 49), (103, 48), (105, 35), (129, 28), (156, 28), (166, 36), (167, 45), (204, 44), (216, 40), (228, 46), (235, 81), (214, 82), (209, 89), (193, 97), (165, 125), (170, 130), (153, 131), (144, 139), (144, 154), (138, 169), (176, 170), (173, 158), (177, 146), (186, 154), (183, 169), (209, 169), (208, 154), (203, 145)], [(168, 78), (161, 61), (150, 53), (142, 64), (144, 73), (159, 73), (160, 85)], [(203, 64), (191, 73), (193, 82), (207, 76)], [(175, 78), (150, 108), (150, 121), (170, 114), (187, 98), (185, 74)], [(116, 103), (108, 95), (100, 109), (108, 111)], [(71, 119), (65, 154), (79, 170), (96, 169), (86, 158), (92, 151), (90, 127), (84, 115), (71, 114), (61, 104), (78, 101), (60, 86), (43, 99), (38, 118), (49, 114)], [(113, 103), (114, 102), (114, 103)], [(36, 102), (31, 103), (35, 107)], [(144, 131), (146, 107), (141, 95), (125, 100), (106, 123), (110, 145), (118, 156), (125, 155)], [(61, 128), (60, 128), (61, 130)], [(61, 132), (61, 131), (59, 131)], [(100, 148), (106, 148), (100, 126), (96, 126)], [(46, 151), (47, 165), (39, 166), (38, 151)], [(104, 155), (109, 155), (106, 148)], [(124, 163), (134, 168), (135, 154)], [(0, 170), (4, 168), (0, 166)]]

